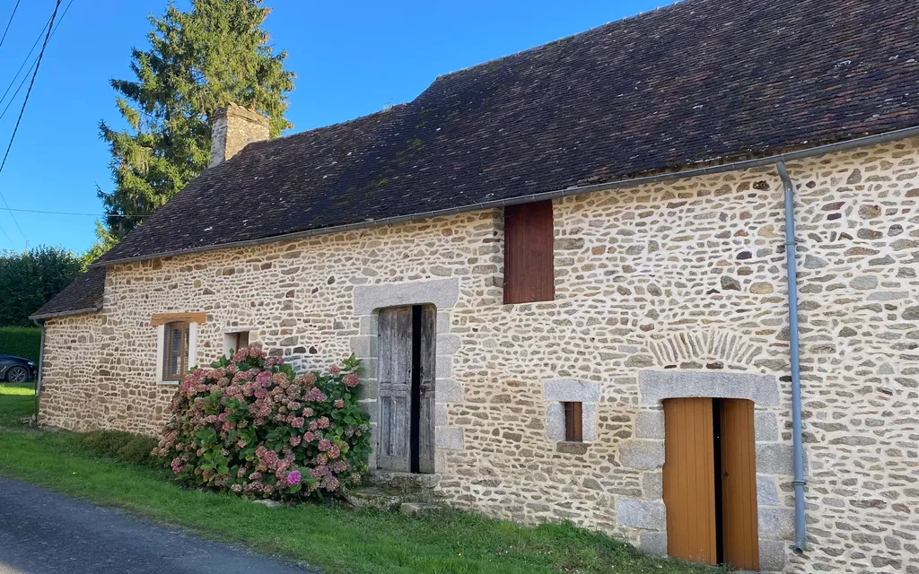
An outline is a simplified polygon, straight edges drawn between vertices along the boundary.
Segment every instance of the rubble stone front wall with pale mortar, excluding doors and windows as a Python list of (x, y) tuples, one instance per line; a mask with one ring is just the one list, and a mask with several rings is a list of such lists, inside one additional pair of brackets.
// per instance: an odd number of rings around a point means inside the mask
[[(760, 533), (774, 542), (761, 543), (764, 567), (919, 572), (917, 145), (789, 163), (799, 209), (804, 557), (789, 542), (784, 216), (771, 167), (556, 201), (550, 302), (502, 304), (499, 211), (116, 265), (103, 311), (47, 322), (41, 419), (155, 433), (173, 390), (156, 382), (149, 323), (159, 312), (207, 312), (201, 362), (220, 354), (223, 332), (244, 325), (298, 368), (354, 349), (372, 377), (374, 315), (361, 286), (450, 277), (458, 298), (438, 314), (450, 353), (437, 361), (438, 488), (449, 501), (523, 523), (571, 519), (660, 549), (652, 535), (663, 518), (653, 515), (663, 460), (641, 442), (659, 440), (642, 373), (768, 376), (778, 396), (757, 405), (758, 496), (769, 509)], [(91, 338), (78, 343), (80, 333)], [(74, 356), (97, 365), (76, 369)], [(550, 381), (559, 380), (599, 389), (593, 441), (556, 440)]]

